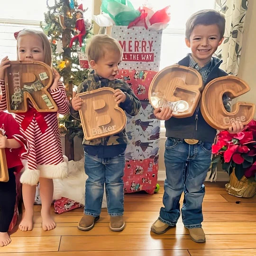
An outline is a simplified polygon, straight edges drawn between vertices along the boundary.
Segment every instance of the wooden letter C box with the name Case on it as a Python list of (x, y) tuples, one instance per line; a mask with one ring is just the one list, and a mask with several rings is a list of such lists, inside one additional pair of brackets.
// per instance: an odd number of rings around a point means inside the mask
[(254, 117), (255, 105), (237, 102), (229, 113), (224, 108), (222, 95), (227, 94), (234, 99), (249, 90), (247, 83), (236, 76), (229, 75), (212, 80), (205, 86), (201, 96), (203, 118), (217, 130), (226, 130), (235, 121), (247, 125)]

